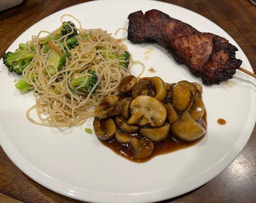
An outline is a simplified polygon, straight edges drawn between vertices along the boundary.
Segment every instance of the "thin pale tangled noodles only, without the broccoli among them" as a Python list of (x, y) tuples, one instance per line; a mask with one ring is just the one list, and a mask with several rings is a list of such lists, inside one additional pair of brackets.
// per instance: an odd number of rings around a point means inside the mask
[[(78, 19), (74, 19), (79, 22)], [(75, 48), (69, 50), (66, 44), (67, 36), (74, 31), (73, 28), (68, 35), (53, 39), (51, 42), (52, 46), (58, 46), (65, 55), (67, 52), (70, 53), (70, 57), (66, 57), (66, 63), (61, 70), (58, 71), (58, 67), (53, 65), (55, 74), (51, 74), (47, 69), (46, 63), (50, 50), (45, 53), (45, 45), (42, 45), (41, 42), (54, 35), (57, 30), (53, 32), (40, 31), (37, 36), (33, 36), (32, 40), (27, 42), (34, 46), (36, 54), (22, 72), (24, 80), (33, 86), (33, 94), (36, 98), (36, 104), (26, 114), (32, 123), (53, 127), (81, 125), (87, 118), (94, 116), (93, 108), (99, 105), (105, 96), (117, 93), (117, 86), (131, 70), (133, 64), (139, 63), (144, 69), (144, 64), (139, 61), (131, 59), (130, 67), (127, 70), (119, 64), (118, 59), (109, 58), (109, 54), (123, 54), (127, 51), (127, 47), (107, 31), (82, 29), (80, 22), (79, 24), (80, 29), (77, 29), (79, 33), (75, 36), (79, 45)], [(40, 38), (41, 33), (47, 33), (48, 36)], [(85, 39), (83, 38), (84, 34), (90, 37)], [(101, 48), (98, 49), (98, 47)], [(80, 88), (89, 79), (89, 70), (95, 71), (98, 81), (89, 93), (81, 92)], [(82, 85), (78, 87), (70, 85), (72, 78), (82, 76), (85, 77)], [(31, 118), (30, 112), (33, 110), (36, 110), (41, 122)]]

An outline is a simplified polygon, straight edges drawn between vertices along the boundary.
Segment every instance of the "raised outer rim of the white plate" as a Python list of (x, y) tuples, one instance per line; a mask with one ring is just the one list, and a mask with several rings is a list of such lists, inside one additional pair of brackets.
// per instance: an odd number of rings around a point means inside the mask
[[(64, 8), (62, 10), (59, 10), (53, 14), (50, 14), (48, 16), (46, 16), (45, 18), (41, 19), (40, 21), (34, 23), (32, 26), (30, 26), (28, 29), (33, 28), (33, 26), (37, 23), (40, 23), (41, 21), (46, 20), (49, 16), (55, 15), (58, 12), (64, 11), (64, 10), (68, 10), (72, 7), (78, 7), (82, 4), (100, 4), (100, 2), (103, 1), (109, 1), (111, 2), (112, 0), (97, 0), (97, 1), (90, 1), (90, 2), (85, 2), (85, 3), (81, 3), (81, 4), (76, 4), (67, 8)], [(130, 1), (134, 1), (136, 2), (136, 0), (130, 0)], [(166, 5), (172, 5), (174, 7), (179, 7), (181, 9), (185, 9), (189, 12), (193, 12), (195, 15), (199, 15), (200, 17), (202, 17), (204, 20), (210, 21), (211, 23), (215, 24), (216, 26), (218, 26), (219, 29), (221, 29), (221, 31), (225, 32), (225, 34), (230, 38), (233, 39), (223, 28), (221, 28), (219, 25), (217, 25), (215, 22), (209, 20), (208, 18), (194, 12), (191, 11), (187, 8), (184, 7), (180, 7), (177, 5), (173, 5), (173, 4), (169, 4), (169, 3), (165, 3), (165, 2), (158, 2), (156, 0), (150, 1), (150, 0), (139, 0), (141, 2), (155, 2), (156, 4), (166, 4)], [(28, 30), (27, 29), (27, 30)], [(26, 32), (27, 30), (25, 30), (24, 32)], [(21, 35), (23, 35), (23, 33), (21, 33)], [(20, 35), (20, 36), (21, 36)], [(18, 37), (19, 38), (19, 37)], [(15, 39), (13, 41), (13, 43), (8, 47), (7, 50), (9, 50), (9, 48), (16, 43), (16, 41), (18, 40)], [(233, 41), (235, 41), (233, 39)], [(236, 41), (235, 41), (236, 42)], [(238, 45), (238, 43), (236, 43)], [(247, 69), (249, 68), (250, 70), (252, 70), (252, 67), (250, 65), (250, 62), (248, 60), (248, 58), (246, 57), (246, 55), (244, 54), (243, 50), (241, 49), (241, 47), (238, 45), (237, 46), (238, 49), (240, 50), (240, 54), (244, 55), (244, 57), (246, 58), (249, 66), (247, 67)], [(256, 94), (253, 94), (253, 91), (251, 91), (251, 101), (256, 103)], [(255, 124), (255, 120), (256, 120), (256, 107), (254, 107), (254, 109), (252, 109), (247, 117), (247, 120), (249, 118), (253, 118), (254, 117), (254, 124)], [(46, 174), (44, 174), (43, 172), (41, 172), (40, 170), (38, 170), (35, 166), (33, 166), (31, 163), (29, 163), (29, 161), (27, 161), (25, 158), (23, 158), (18, 151), (12, 146), (12, 144), (10, 143), (10, 141), (8, 140), (2, 124), (0, 123), (0, 145), (2, 146), (3, 150), (5, 151), (5, 153), (7, 154), (7, 156), (12, 160), (12, 162), (27, 176), (29, 176), (31, 179), (33, 179), (34, 181), (36, 181), (37, 183), (39, 183), (40, 185), (55, 191), (57, 193), (60, 193), (62, 195), (71, 197), (71, 198), (75, 198), (75, 199), (79, 199), (79, 200), (84, 200), (84, 201), (90, 201), (90, 202), (103, 202), (103, 203), (108, 203), (108, 202), (140, 202), (140, 203), (146, 203), (146, 202), (152, 202), (152, 201), (160, 201), (160, 200), (164, 200), (164, 199), (169, 199), (169, 198), (173, 198), (176, 196), (180, 196), (182, 194), (185, 194), (189, 191), (192, 191), (198, 187), (200, 187), (203, 184), (206, 184), (207, 182), (209, 182), (210, 180), (212, 180), (214, 177), (216, 177), (218, 174), (220, 174), (222, 171), (225, 170), (225, 168), (231, 164), (235, 158), (241, 153), (242, 149), (244, 148), (244, 146), (246, 145), (246, 143), (248, 142), (251, 133), (253, 131), (254, 128), (254, 124), (251, 122), (246, 122), (246, 125), (244, 126), (241, 134), (249, 134), (249, 136), (246, 137), (246, 139), (244, 139), (244, 137), (242, 138), (241, 135), (238, 138), (237, 142), (232, 146), (232, 148), (226, 153), (226, 155), (224, 157), (222, 157), (221, 160), (219, 160), (216, 164), (214, 164), (212, 167), (210, 167), (207, 171), (201, 173), (200, 176), (201, 179), (197, 180), (196, 183), (193, 183), (194, 179), (197, 178), (193, 177), (192, 179), (190, 179), (189, 181), (186, 182), (187, 187), (186, 189), (179, 189), (178, 192), (175, 191), (172, 194), (169, 193), (170, 188), (166, 187), (166, 188), (162, 188), (160, 190), (155, 190), (155, 191), (150, 191), (148, 193), (136, 193), (136, 194), (120, 194), (120, 193), (110, 193), (110, 192), (104, 192), (104, 191), (95, 191), (95, 190), (89, 190), (89, 189), (85, 189), (85, 188), (80, 188), (74, 185), (69, 185), (67, 183), (61, 182), (59, 180), (56, 180), (52, 177), (47, 176)], [(245, 131), (247, 133), (245, 133)], [(236, 148), (236, 149), (235, 149)], [(238, 149), (237, 149), (238, 148)], [(229, 161), (228, 161), (229, 160)], [(64, 188), (63, 185), (66, 187)], [(178, 185), (178, 187), (181, 187), (182, 184)], [(74, 189), (67, 189), (68, 187)], [(181, 191), (182, 190), (182, 191)], [(88, 192), (88, 194), (85, 194), (85, 192)], [(76, 193), (76, 194), (74, 194)], [(91, 194), (89, 194), (91, 193)], [(94, 194), (94, 195), (92, 195)], [(136, 197), (135, 197), (136, 196)], [(96, 197), (96, 198), (95, 198)], [(123, 199), (123, 197), (125, 197), (126, 199)], [(160, 197), (160, 198), (159, 198)]]

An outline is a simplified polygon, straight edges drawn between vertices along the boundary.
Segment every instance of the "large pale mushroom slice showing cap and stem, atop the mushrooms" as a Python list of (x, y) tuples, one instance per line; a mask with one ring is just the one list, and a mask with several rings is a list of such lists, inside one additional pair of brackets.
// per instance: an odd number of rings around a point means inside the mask
[(145, 95), (133, 99), (130, 109), (132, 115), (127, 120), (128, 124), (159, 127), (164, 124), (167, 116), (166, 109), (159, 100)]

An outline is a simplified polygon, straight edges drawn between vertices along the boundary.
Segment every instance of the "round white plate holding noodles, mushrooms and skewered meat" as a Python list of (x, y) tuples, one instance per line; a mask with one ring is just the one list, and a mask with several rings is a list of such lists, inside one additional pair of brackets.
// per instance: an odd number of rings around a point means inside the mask
[[(242, 67), (252, 71), (237, 43), (210, 20), (181, 7), (155, 1), (95, 1), (59, 11), (25, 31), (8, 50), (30, 40), (40, 30), (54, 30), (63, 14), (80, 19), (83, 27), (114, 32), (127, 27), (127, 16), (135, 11), (158, 9), (200, 31), (212, 32), (238, 47)], [(154, 67), (144, 76), (158, 75), (166, 82), (196, 81), (184, 65), (178, 65), (166, 50), (150, 44), (126, 42), (134, 58), (146, 67)], [(153, 49), (144, 58), (147, 49)], [(32, 93), (21, 94), (14, 87), (16, 75), (7, 75), (0, 63), (0, 143), (11, 160), (29, 177), (66, 196), (93, 202), (152, 202), (189, 192), (208, 182), (227, 167), (248, 141), (256, 116), (255, 80), (243, 73), (221, 85), (203, 86), (203, 100), (208, 114), (208, 133), (197, 145), (161, 155), (138, 164), (116, 155), (103, 146), (94, 134), (92, 119), (80, 127), (56, 129), (30, 123), (25, 112), (34, 103)], [(224, 118), (227, 124), (217, 124)]]

